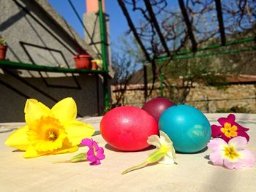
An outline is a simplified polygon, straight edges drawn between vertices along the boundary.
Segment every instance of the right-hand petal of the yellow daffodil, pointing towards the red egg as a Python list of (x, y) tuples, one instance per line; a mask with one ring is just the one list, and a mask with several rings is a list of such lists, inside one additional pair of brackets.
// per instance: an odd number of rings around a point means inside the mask
[(79, 145), (83, 139), (90, 138), (94, 134), (93, 126), (78, 120), (69, 121), (64, 128), (72, 146)]

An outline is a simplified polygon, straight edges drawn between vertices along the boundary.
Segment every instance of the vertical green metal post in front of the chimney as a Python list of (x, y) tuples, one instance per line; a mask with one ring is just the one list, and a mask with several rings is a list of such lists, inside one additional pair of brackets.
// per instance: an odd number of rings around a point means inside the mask
[[(108, 71), (108, 61), (106, 55), (105, 45), (105, 19), (102, 11), (102, 0), (99, 0), (99, 30), (100, 30), (100, 42), (102, 48), (102, 67), (103, 71)], [(108, 94), (108, 74), (104, 75), (104, 92), (105, 92), (105, 109), (109, 106), (109, 94)]]

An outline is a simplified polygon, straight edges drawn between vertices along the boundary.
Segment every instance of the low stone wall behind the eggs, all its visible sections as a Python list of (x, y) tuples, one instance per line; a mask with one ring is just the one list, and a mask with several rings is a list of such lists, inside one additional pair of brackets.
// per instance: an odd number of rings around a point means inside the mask
[[(153, 91), (151, 98), (161, 96), (159, 88)], [(151, 99), (148, 98), (148, 99)], [(116, 92), (113, 88), (113, 101), (116, 101)], [(123, 105), (142, 107), (144, 91), (140, 87), (128, 87), (124, 95)], [(228, 85), (217, 88), (197, 84), (187, 96), (186, 104), (197, 107), (202, 112), (256, 112), (255, 85)]]

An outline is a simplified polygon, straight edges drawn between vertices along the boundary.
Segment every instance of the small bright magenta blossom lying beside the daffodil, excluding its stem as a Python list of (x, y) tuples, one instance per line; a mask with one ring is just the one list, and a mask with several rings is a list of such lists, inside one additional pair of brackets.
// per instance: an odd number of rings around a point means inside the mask
[(91, 161), (90, 165), (99, 165), (100, 160), (105, 158), (103, 148), (99, 147), (97, 142), (95, 142), (93, 139), (83, 139), (81, 145), (89, 147), (87, 152), (87, 160)]

